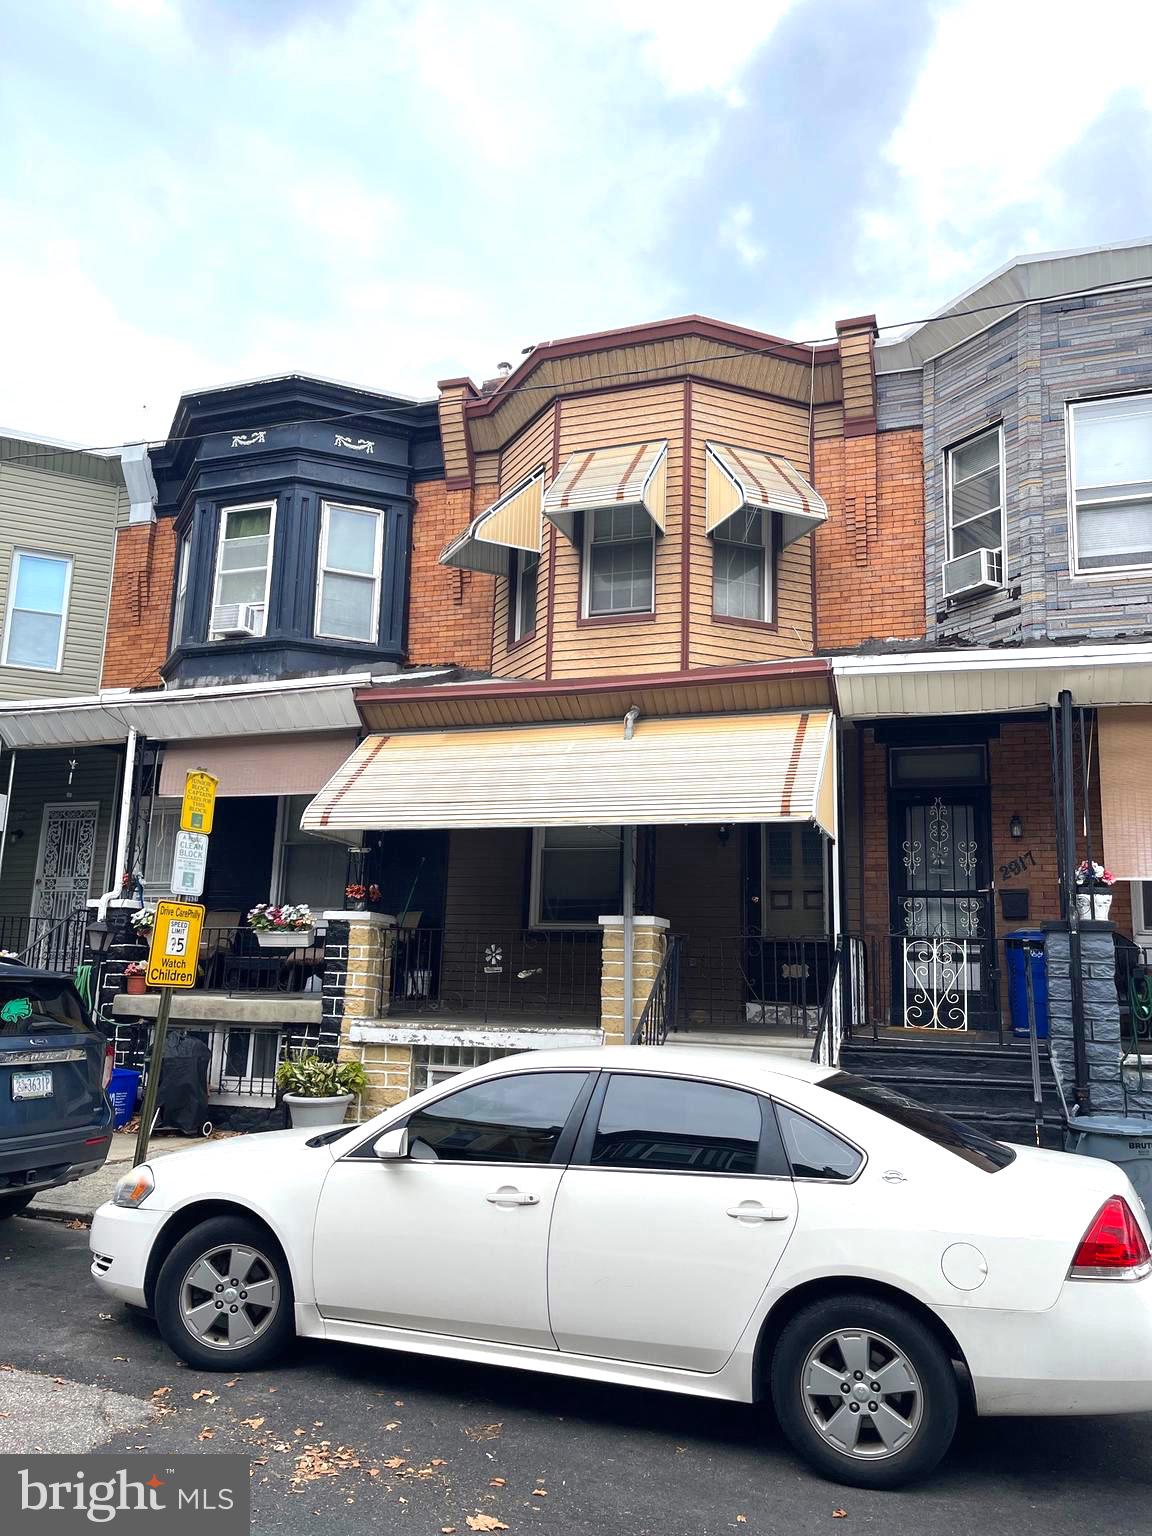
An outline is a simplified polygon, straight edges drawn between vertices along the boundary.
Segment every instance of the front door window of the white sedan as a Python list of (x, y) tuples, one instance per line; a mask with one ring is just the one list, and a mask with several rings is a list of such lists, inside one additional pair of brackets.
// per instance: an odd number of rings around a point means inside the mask
[(548, 1163), (587, 1072), (518, 1072), (409, 1117), (409, 1155), (436, 1163)]

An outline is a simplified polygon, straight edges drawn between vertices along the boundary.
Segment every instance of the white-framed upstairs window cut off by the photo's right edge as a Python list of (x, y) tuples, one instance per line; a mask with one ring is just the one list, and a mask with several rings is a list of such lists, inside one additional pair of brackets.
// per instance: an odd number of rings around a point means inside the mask
[(1068, 407), (1075, 570), (1152, 565), (1152, 395)]

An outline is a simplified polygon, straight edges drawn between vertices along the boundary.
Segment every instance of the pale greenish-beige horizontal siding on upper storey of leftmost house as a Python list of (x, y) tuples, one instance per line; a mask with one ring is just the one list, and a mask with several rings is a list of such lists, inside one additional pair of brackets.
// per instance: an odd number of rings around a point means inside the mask
[(121, 499), (123, 487), (109, 479), (0, 462), (0, 625), (15, 550), (72, 556), (60, 671), (0, 667), (0, 700), (69, 697), (100, 687)]

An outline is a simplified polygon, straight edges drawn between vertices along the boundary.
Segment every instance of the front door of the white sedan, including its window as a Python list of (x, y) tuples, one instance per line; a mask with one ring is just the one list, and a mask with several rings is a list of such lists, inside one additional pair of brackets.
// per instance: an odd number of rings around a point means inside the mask
[(585, 1071), (485, 1078), (413, 1111), (407, 1160), (366, 1146), (333, 1163), (316, 1212), (319, 1312), (554, 1349), (548, 1224), (587, 1086)]

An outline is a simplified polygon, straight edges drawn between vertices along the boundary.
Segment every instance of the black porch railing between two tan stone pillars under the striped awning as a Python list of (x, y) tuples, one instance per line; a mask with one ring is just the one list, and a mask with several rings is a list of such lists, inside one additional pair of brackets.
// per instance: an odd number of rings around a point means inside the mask
[(401, 928), (390, 1011), (593, 1023), (601, 1012), (601, 951), (599, 931)]

